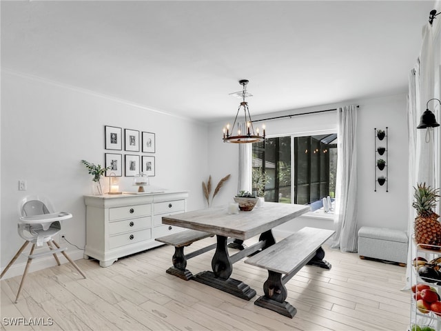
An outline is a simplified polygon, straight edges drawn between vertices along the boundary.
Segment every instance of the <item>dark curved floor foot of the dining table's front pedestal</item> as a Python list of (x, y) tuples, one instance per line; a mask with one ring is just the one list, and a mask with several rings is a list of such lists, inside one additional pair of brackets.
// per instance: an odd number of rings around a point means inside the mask
[(233, 294), (240, 299), (251, 300), (256, 295), (256, 290), (250, 288), (249, 285), (243, 283), (243, 281), (238, 281), (233, 278), (220, 279), (211, 271), (199, 272), (194, 275), (192, 279), (198, 283), (203, 283), (212, 288)]

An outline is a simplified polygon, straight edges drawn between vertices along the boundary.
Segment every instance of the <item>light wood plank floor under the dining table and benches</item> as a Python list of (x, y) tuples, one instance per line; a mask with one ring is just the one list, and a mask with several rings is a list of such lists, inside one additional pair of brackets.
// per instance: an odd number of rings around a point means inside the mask
[[(213, 242), (204, 239), (187, 251)], [(234, 264), (232, 277), (257, 291), (245, 301), (166, 274), (174, 248), (161, 246), (108, 268), (76, 261), (87, 279), (70, 263), (32, 272), (18, 303), (13, 301), (21, 277), (1, 281), (0, 330), (407, 330), (405, 268), (324, 248), (331, 270), (307, 265), (287, 283), (287, 301), (297, 308), (294, 319), (254, 305), (263, 295), (265, 270)], [(210, 270), (212, 254), (190, 259), (187, 268), (194, 274)], [(5, 325), (5, 318), (14, 317), (53, 324)]]

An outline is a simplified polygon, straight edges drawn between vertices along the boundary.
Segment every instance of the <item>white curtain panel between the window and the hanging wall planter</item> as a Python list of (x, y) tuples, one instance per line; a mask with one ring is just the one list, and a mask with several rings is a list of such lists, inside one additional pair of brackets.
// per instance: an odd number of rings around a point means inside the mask
[(338, 108), (336, 215), (331, 248), (357, 251), (357, 108)]

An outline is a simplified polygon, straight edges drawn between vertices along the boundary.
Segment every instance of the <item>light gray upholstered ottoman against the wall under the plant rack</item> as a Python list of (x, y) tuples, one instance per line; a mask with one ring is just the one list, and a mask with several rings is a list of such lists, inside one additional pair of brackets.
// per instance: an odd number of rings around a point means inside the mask
[(407, 234), (400, 230), (370, 228), (358, 230), (358, 255), (385, 261), (407, 263)]

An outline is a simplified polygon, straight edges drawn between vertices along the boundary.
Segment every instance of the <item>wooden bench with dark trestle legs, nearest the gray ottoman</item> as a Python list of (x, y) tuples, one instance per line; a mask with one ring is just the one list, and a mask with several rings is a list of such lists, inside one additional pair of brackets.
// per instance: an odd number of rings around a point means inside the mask
[[(285, 301), (288, 294), (285, 283), (306, 264), (331, 269), (331, 265), (323, 259), (325, 251), (321, 245), (332, 234), (333, 230), (302, 228), (245, 260), (245, 263), (268, 270), (268, 278), (263, 284), (265, 295), (254, 304), (292, 319), (297, 310)], [(285, 276), (282, 277), (282, 274)]]

